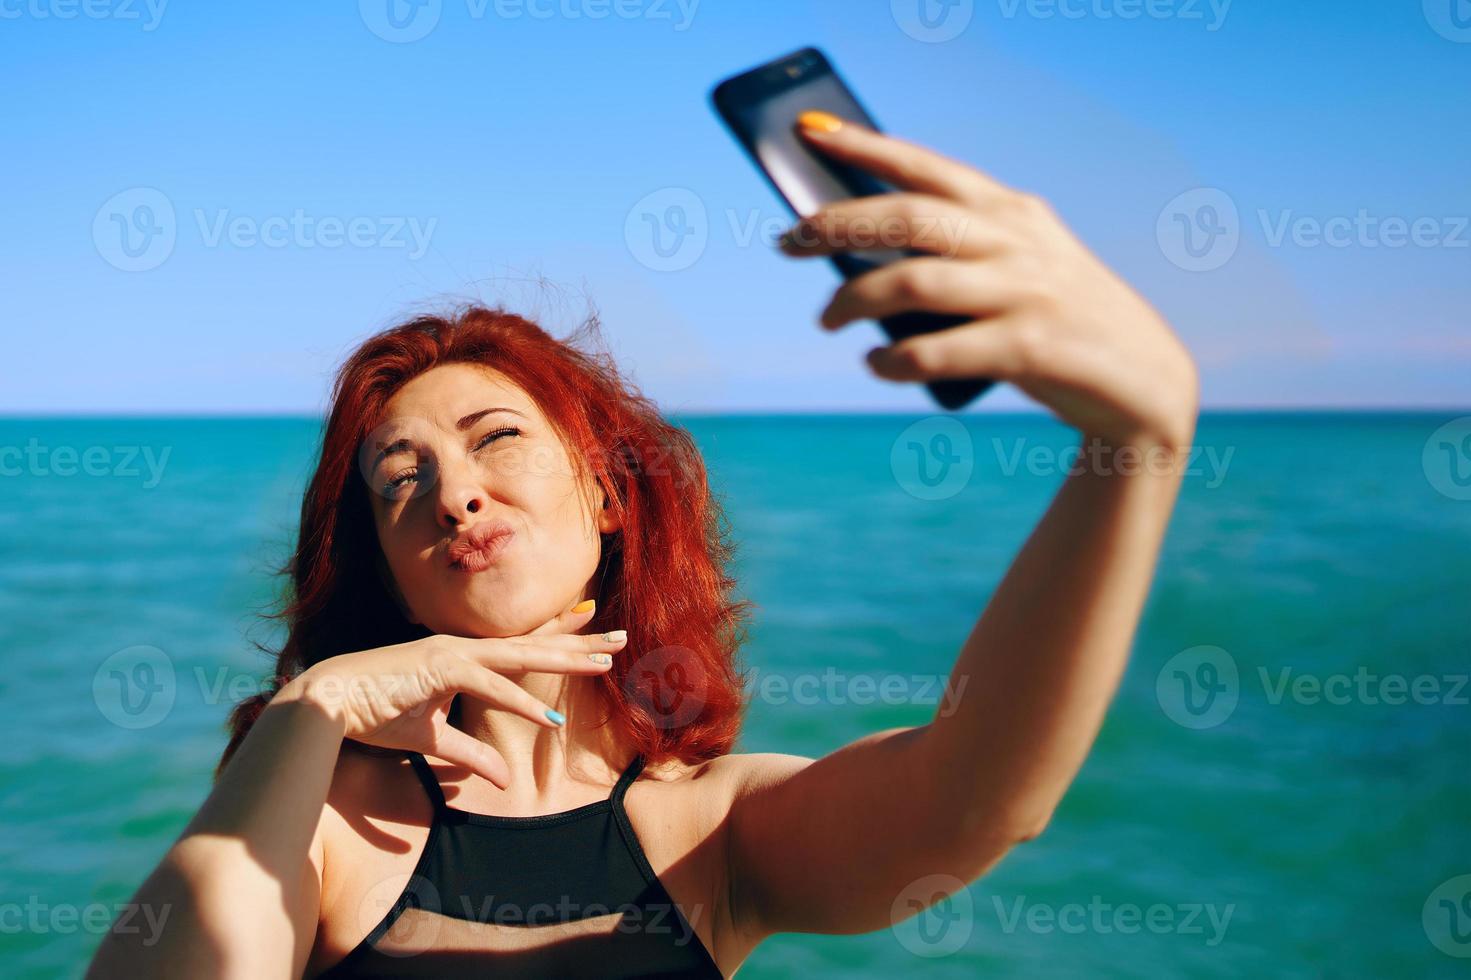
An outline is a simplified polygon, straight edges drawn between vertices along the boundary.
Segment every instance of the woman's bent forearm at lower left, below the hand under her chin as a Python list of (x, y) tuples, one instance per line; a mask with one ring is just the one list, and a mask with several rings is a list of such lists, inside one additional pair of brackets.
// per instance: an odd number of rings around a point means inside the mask
[(312, 837), (343, 722), (288, 684), (132, 903), (156, 936), (115, 928), (88, 977), (288, 976), (315, 936)]

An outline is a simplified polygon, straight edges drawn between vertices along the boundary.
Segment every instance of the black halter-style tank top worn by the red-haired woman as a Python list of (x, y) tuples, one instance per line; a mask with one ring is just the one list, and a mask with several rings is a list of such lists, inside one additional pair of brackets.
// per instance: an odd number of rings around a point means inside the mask
[[(544, 817), (491, 817), (444, 802), (422, 755), (409, 761), (434, 823), (403, 892), (338, 964), (347, 977), (719, 977), (634, 834), (624, 795)], [(688, 915), (688, 917), (687, 917)]]

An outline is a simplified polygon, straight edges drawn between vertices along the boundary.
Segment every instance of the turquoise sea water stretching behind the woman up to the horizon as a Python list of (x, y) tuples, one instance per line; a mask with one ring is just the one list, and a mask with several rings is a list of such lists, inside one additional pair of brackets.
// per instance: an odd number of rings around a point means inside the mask
[[(1471, 974), (1471, 453), (1436, 436), (1458, 415), (1206, 416), (1047, 831), (911, 926), (777, 937), (741, 976)], [(683, 421), (758, 603), (744, 748), (809, 755), (928, 718), (1072, 444), (1034, 416)], [(6, 976), (79, 976), (204, 798), (316, 436), (0, 421)], [(140, 645), (163, 712), (110, 686)]]

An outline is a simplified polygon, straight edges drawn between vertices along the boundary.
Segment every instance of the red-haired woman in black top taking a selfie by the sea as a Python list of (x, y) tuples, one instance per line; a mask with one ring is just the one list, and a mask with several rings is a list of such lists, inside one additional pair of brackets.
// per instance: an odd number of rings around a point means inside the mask
[(109, 934), (91, 976), (730, 976), (774, 933), (890, 926), (1043, 830), (1125, 665), (1194, 366), (1036, 197), (800, 129), (900, 191), (808, 216), (788, 255), (863, 228), (934, 253), (846, 283), (822, 325), (972, 316), (871, 369), (1011, 381), (1086, 441), (959, 702), (816, 761), (731, 753), (744, 605), (690, 440), (518, 316), (419, 319), (341, 369), (279, 690), (237, 709), (134, 899), (171, 909), (163, 937)]

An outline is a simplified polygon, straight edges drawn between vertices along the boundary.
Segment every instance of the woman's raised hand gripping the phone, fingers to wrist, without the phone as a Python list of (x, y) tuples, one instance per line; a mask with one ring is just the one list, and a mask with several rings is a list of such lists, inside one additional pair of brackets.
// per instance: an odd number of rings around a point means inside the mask
[[(828, 205), (783, 238), (791, 256), (905, 247), (846, 283), (822, 325), (930, 310), (974, 322), (869, 352), (893, 381), (996, 378), (1109, 446), (1183, 449), (1194, 433), (1194, 363), (1168, 324), (1041, 199), (924, 147), (827, 113), (799, 131), (833, 159), (899, 193)], [(865, 238), (866, 237), (866, 238)]]

